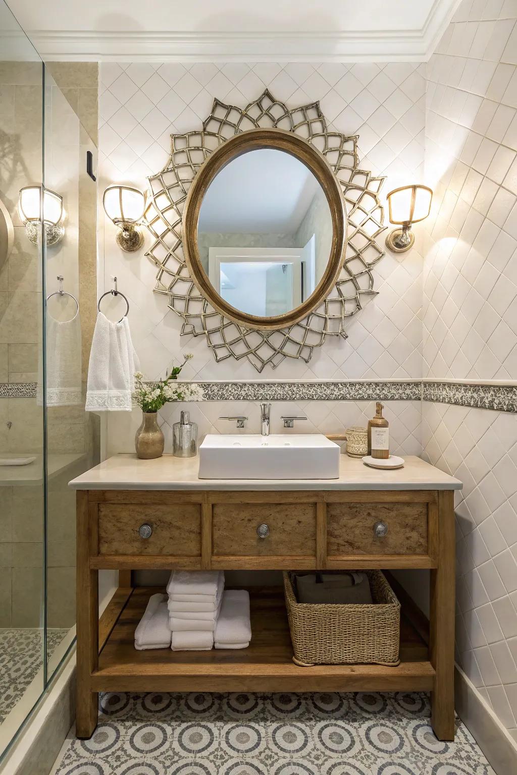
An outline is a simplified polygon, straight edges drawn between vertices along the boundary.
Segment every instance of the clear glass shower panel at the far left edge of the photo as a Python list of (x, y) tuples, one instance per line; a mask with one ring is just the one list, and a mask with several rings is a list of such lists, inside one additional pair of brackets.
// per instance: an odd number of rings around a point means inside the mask
[(43, 179), (42, 81), (0, 0), (0, 756), (45, 684), (43, 251), (18, 208)]

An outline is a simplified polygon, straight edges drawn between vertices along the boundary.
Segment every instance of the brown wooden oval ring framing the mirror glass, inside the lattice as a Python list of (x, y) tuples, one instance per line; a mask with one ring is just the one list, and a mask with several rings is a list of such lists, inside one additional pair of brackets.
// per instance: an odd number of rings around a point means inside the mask
[[(326, 195), (333, 226), (333, 239), (326, 270), (312, 294), (297, 308), (284, 312), (283, 315), (269, 317), (250, 315), (228, 304), (210, 282), (198, 250), (199, 213), (210, 184), (226, 165), (231, 164), (243, 153), (263, 148), (290, 153), (308, 167)], [(326, 158), (306, 140), (286, 129), (249, 129), (219, 146), (198, 171), (188, 190), (184, 206), (183, 235), (184, 257), (191, 278), (212, 307), (246, 329), (276, 331), (288, 325), (294, 325), (307, 317), (326, 298), (339, 277), (346, 248), (346, 209), (343, 192)]]

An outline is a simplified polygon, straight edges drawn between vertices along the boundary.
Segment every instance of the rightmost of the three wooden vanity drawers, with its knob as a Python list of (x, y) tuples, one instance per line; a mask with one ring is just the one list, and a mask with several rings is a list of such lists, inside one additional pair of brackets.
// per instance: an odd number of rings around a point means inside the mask
[(428, 553), (426, 503), (329, 503), (327, 508), (328, 556)]

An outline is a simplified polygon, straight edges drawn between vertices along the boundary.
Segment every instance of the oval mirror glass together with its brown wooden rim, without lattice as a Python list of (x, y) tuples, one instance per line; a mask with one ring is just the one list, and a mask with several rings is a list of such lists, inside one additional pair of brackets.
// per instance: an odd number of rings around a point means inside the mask
[(241, 133), (210, 155), (188, 192), (191, 277), (240, 325), (292, 325), (331, 291), (345, 219), (341, 188), (318, 150), (280, 129)]

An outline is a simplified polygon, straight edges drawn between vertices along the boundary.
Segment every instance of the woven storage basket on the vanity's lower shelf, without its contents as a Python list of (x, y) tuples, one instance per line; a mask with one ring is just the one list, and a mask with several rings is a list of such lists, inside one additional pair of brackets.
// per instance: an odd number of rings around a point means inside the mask
[(297, 665), (398, 665), (400, 603), (380, 570), (361, 573), (370, 581), (373, 605), (298, 603), (293, 588), (295, 574), (284, 571), (293, 662)]

